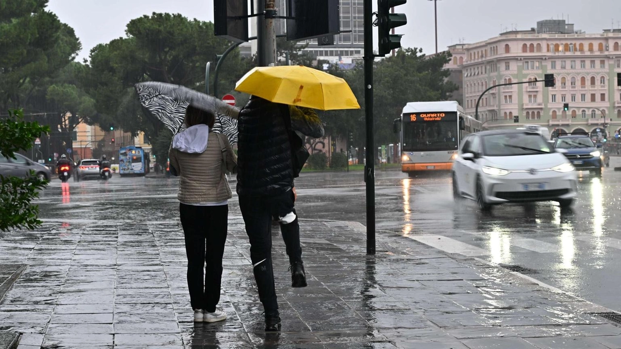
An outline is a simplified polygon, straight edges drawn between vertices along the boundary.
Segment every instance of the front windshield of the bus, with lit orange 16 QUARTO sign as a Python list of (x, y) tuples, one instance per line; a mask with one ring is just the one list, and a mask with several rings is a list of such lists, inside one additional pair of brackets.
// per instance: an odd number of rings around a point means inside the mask
[[(441, 117), (426, 117), (441, 115)], [(457, 150), (459, 148), (456, 112), (404, 114), (403, 151)]]

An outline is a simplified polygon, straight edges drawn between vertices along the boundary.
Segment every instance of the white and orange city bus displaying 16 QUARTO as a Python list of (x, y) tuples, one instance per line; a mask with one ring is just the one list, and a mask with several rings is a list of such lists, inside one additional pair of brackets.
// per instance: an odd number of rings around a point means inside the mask
[(415, 171), (451, 170), (461, 140), (481, 131), (483, 124), (456, 101), (409, 102), (394, 120), (394, 129), (401, 129), (401, 171), (411, 176)]

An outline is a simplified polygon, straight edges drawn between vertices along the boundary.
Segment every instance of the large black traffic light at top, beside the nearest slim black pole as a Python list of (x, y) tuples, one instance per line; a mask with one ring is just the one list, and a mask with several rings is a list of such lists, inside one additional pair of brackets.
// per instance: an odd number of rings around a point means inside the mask
[(404, 13), (390, 13), (392, 7), (405, 4), (407, 0), (378, 0), (379, 55), (384, 56), (401, 47), (403, 34), (391, 34), (391, 29), (406, 25)]

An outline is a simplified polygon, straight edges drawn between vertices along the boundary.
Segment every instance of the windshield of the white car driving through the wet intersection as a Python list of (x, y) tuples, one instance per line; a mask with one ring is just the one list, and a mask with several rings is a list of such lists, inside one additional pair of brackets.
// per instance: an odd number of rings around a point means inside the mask
[(550, 144), (538, 134), (507, 133), (483, 136), (483, 155), (516, 156), (553, 153)]

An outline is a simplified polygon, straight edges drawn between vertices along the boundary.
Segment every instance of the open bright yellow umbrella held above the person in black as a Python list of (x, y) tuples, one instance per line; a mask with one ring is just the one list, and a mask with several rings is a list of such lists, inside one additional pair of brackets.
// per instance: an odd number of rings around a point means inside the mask
[(322, 111), (360, 109), (345, 80), (301, 65), (253, 68), (237, 81), (235, 91), (271, 102)]

